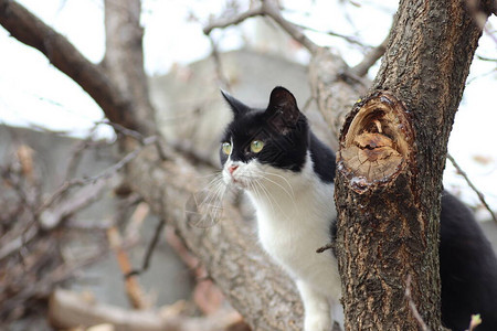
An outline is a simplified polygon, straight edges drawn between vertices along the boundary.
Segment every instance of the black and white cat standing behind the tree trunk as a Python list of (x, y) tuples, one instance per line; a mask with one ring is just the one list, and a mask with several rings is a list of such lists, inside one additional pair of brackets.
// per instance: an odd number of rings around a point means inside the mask
[[(295, 280), (305, 308), (305, 331), (331, 330), (330, 302), (340, 278), (332, 250), (316, 249), (335, 236), (335, 153), (316, 138), (292, 93), (275, 87), (266, 109), (251, 108), (226, 93), (234, 119), (221, 142), (223, 180), (252, 201), (258, 238)], [(444, 193), (441, 214), (442, 320), (465, 330), (497, 330), (497, 260), (472, 213)], [(337, 305), (335, 305), (337, 306)]]

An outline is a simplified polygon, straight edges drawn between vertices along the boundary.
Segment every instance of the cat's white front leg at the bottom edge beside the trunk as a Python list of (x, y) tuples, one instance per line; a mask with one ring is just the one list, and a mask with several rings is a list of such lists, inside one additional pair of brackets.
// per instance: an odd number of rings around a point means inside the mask
[(330, 331), (331, 312), (328, 297), (303, 280), (297, 280), (296, 282), (304, 302), (304, 330)]

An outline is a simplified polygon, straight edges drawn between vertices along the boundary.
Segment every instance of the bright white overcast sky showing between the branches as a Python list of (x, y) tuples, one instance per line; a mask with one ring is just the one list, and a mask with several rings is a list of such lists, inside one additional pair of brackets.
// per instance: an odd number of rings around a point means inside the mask
[[(68, 38), (91, 61), (98, 63), (104, 55), (105, 34), (103, 1), (99, 0), (23, 0), (19, 1), (45, 23)], [(239, 1), (246, 8), (248, 1)], [(202, 25), (210, 15), (224, 8), (223, 0), (145, 0), (145, 66), (149, 75), (166, 74), (173, 64), (187, 65), (210, 53), (209, 40)], [(283, 1), (285, 17), (320, 31), (353, 35), (369, 45), (381, 43), (391, 24), (396, 1)], [(361, 6), (357, 6), (361, 3)], [(497, 38), (497, 19), (490, 19), (489, 31)], [(253, 36), (251, 21), (213, 36), (222, 50), (244, 45)], [(309, 38), (346, 54), (353, 65), (361, 58), (357, 46), (341, 39), (307, 31)], [(84, 137), (95, 121), (103, 119), (97, 105), (70, 78), (54, 70), (38, 51), (24, 46), (0, 28), (0, 122), (15, 126), (42, 126)], [(497, 58), (497, 43), (488, 34), (480, 39), (477, 55)], [(304, 58), (304, 60), (303, 60)], [(300, 56), (305, 61), (306, 56)], [(497, 209), (497, 62), (475, 61), (464, 99), (456, 116), (450, 140), (450, 152), (484, 191)], [(370, 75), (374, 76), (374, 71)], [(112, 137), (112, 130), (101, 126), (98, 137)], [(475, 161), (476, 160), (476, 161)], [(464, 181), (447, 168), (447, 188), (461, 186), (464, 199), (476, 203), (476, 195)]]

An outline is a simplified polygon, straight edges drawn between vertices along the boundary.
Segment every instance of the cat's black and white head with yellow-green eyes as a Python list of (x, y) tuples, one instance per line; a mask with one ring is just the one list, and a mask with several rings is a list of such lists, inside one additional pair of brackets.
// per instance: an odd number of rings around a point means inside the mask
[(234, 115), (220, 146), (226, 184), (252, 190), (264, 179), (277, 181), (271, 175), (303, 169), (309, 128), (289, 90), (275, 87), (265, 109), (251, 108), (226, 93), (223, 96)]

